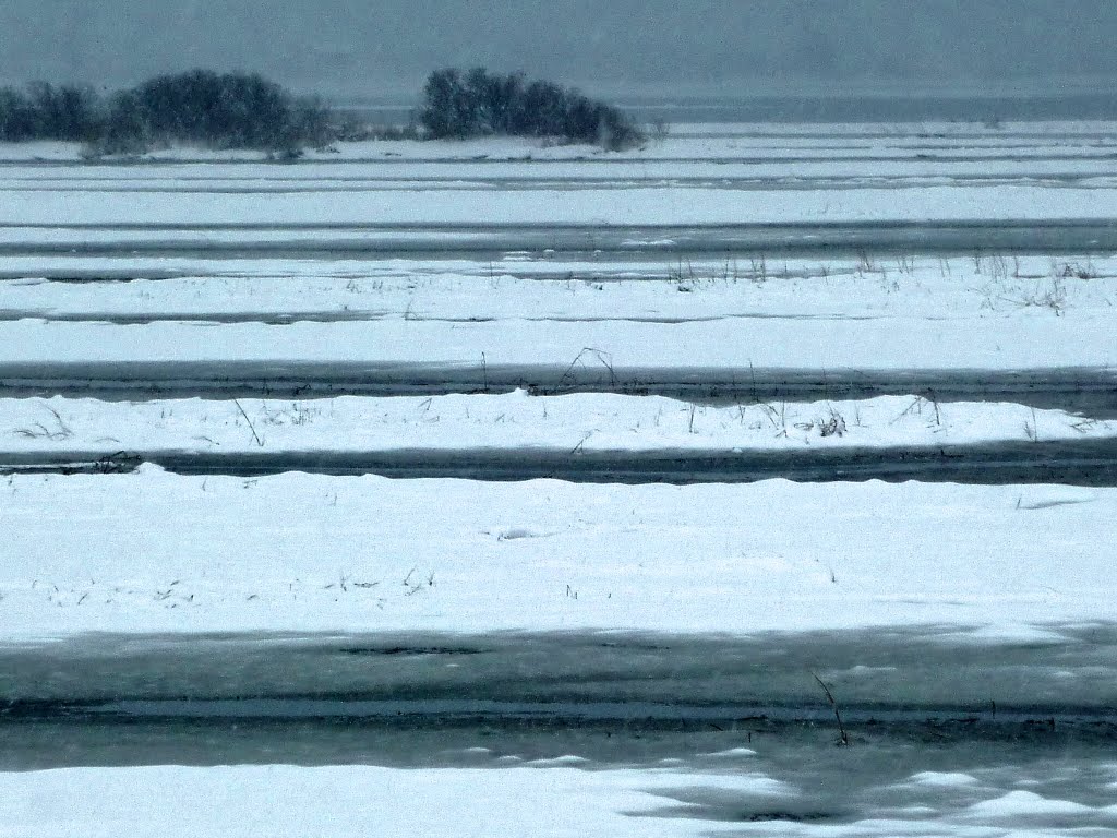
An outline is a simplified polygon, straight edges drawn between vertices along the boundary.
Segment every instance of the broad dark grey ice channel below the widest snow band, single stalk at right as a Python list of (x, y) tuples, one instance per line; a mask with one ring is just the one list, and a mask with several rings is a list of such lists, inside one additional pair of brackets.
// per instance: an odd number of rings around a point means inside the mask
[(8, 770), (500, 754), (700, 762), (737, 746), (773, 759), (824, 752), (842, 737), (897, 753), (1111, 749), (1117, 627), (986, 642), (928, 627), (743, 638), (93, 635), (0, 648)]

